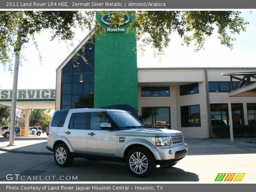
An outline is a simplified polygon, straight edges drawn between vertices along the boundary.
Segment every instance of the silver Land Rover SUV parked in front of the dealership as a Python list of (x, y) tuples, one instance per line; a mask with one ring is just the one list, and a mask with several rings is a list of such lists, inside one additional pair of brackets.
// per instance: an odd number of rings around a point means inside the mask
[(147, 128), (129, 112), (94, 108), (54, 112), (46, 147), (58, 166), (76, 157), (124, 162), (138, 177), (156, 165), (174, 166), (188, 154), (180, 131)]

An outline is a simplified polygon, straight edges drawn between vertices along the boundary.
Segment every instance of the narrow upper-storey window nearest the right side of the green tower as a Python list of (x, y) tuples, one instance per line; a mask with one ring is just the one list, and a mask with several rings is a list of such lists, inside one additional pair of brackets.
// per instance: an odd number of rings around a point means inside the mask
[(166, 97), (170, 96), (170, 87), (142, 87), (142, 97)]

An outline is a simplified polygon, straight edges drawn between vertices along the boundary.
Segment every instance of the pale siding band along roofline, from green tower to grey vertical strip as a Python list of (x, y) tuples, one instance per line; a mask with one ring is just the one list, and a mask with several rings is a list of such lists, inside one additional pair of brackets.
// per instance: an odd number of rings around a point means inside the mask
[(138, 70), (138, 82), (203, 82), (204, 69)]

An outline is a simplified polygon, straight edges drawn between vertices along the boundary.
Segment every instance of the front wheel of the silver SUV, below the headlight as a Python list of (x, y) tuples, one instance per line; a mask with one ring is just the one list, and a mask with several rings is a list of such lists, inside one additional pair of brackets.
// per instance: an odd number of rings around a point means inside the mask
[(146, 177), (156, 169), (156, 160), (148, 149), (136, 147), (128, 152), (126, 165), (132, 175)]

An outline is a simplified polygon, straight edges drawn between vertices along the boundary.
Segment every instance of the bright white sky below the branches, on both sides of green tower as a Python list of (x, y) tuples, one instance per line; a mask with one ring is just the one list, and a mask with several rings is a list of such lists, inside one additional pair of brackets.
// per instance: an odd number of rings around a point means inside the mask
[[(172, 34), (171, 42), (165, 49), (165, 54), (154, 58), (154, 49), (147, 46), (143, 52), (137, 53), (138, 68), (168, 68), (168, 67), (256, 67), (256, 11), (242, 12), (242, 16), (249, 22), (246, 32), (236, 35), (234, 48), (230, 50), (220, 44), (216, 31), (206, 39), (204, 50), (194, 52), (193, 46), (182, 46), (182, 39)], [(77, 30), (74, 45), (88, 34)], [(55, 89), (56, 68), (72, 52), (66, 42), (50, 41), (50, 30), (36, 35), (42, 64), (38, 51), (33, 42), (29, 42), (22, 49), (21, 54), (26, 60), (19, 68), (18, 89)], [(0, 90), (12, 89), (13, 76), (4, 70), (0, 63)]]

